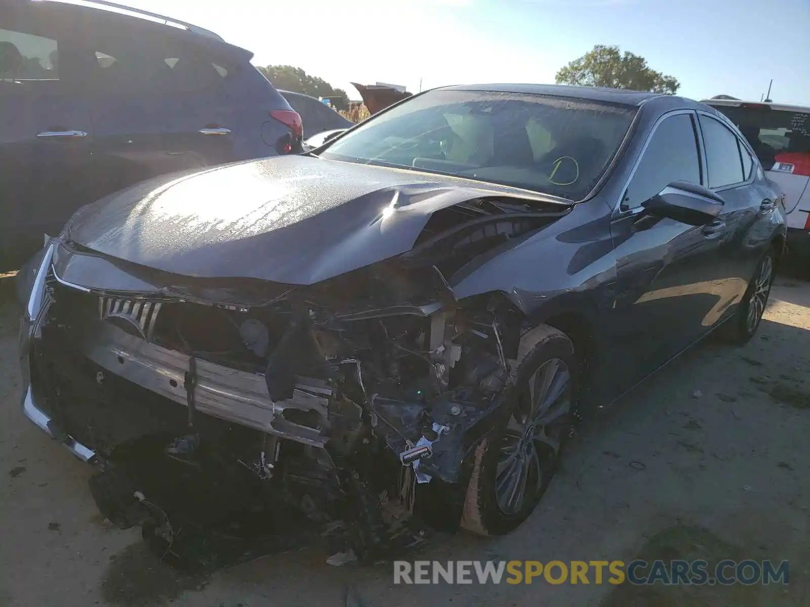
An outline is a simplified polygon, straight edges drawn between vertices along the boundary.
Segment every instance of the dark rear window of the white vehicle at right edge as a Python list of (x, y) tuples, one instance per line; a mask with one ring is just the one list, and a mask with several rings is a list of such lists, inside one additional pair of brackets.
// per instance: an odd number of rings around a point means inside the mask
[(762, 163), (770, 169), (782, 152), (810, 153), (810, 112), (713, 106), (737, 125)]

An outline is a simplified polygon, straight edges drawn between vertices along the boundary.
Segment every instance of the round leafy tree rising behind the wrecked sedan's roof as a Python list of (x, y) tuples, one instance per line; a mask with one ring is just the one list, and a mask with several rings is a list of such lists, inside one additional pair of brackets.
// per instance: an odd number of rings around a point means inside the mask
[(680, 83), (647, 65), (646, 59), (633, 53), (619, 52), (618, 46), (595, 45), (556, 73), (557, 84), (580, 87), (627, 88), (675, 95)]

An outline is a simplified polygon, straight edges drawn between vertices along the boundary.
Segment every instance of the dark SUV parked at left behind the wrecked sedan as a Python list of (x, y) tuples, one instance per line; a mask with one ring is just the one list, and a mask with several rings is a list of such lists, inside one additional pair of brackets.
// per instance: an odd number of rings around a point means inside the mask
[(251, 57), (111, 2), (3, 0), (0, 257), (147, 177), (299, 151), (301, 117)]

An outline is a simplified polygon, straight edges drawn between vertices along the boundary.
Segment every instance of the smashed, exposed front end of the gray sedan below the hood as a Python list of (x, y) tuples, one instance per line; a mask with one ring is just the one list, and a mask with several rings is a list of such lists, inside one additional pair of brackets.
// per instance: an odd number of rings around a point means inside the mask
[(307, 287), (117, 294), (54, 265), (30, 353), (49, 430), (93, 450), (104, 516), (178, 567), (418, 545), (458, 526), (528, 328), (501, 293), (454, 299), (452, 277), (556, 216), (453, 206), (405, 255)]

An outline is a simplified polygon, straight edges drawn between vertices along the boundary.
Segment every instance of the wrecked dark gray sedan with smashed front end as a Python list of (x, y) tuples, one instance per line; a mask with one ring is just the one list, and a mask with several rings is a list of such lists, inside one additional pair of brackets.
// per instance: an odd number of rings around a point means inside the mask
[(752, 336), (784, 234), (704, 105), (428, 91), (80, 209), (25, 274), (23, 407), (164, 555), (507, 533), (582, 412), (721, 325)]

